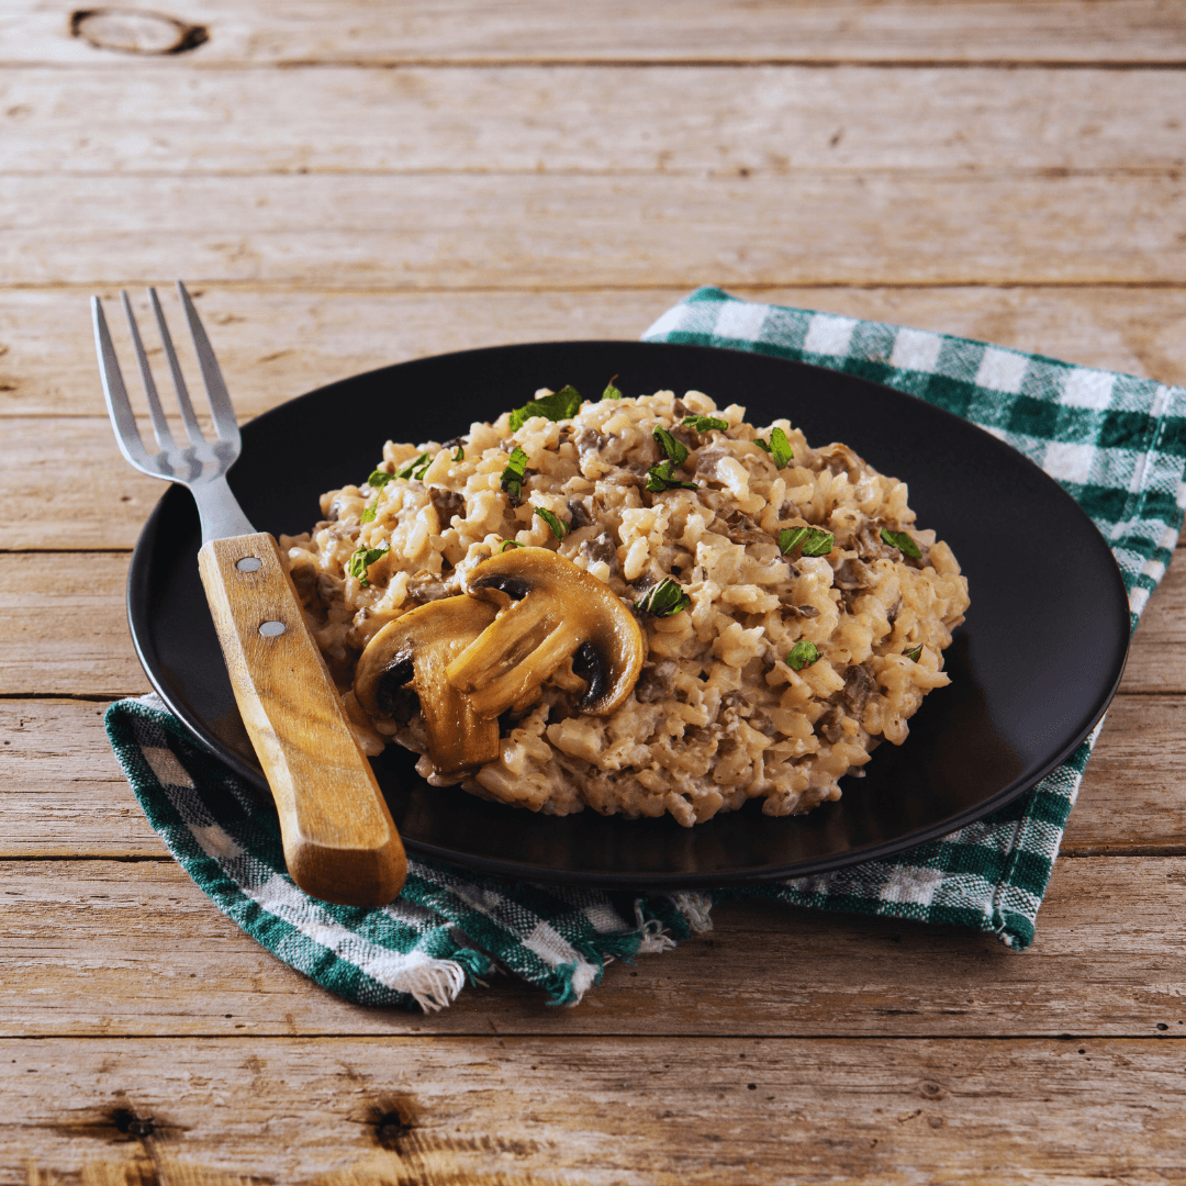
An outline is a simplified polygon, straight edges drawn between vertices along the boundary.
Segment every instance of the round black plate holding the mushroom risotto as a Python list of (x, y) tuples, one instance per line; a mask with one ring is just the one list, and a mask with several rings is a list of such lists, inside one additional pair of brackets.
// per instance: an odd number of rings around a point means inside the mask
[[(950, 543), (971, 610), (946, 652), (952, 684), (926, 697), (900, 747), (881, 746), (843, 798), (772, 820), (759, 804), (693, 829), (586, 810), (565, 818), (434, 790), (414, 755), (375, 760), (413, 853), (534, 880), (709, 886), (839, 868), (978, 820), (1026, 791), (1088, 735), (1128, 651), (1128, 601), (1103, 537), (1035, 465), (931, 404), (779, 358), (637, 342), (541, 343), (442, 355), (359, 375), (293, 400), (243, 429), (230, 484), (251, 522), (308, 530), (318, 496), (358, 482), (388, 438), (442, 440), (537, 388), (626, 395), (699, 389), (752, 423), (788, 416), (812, 445), (842, 440), (910, 483), (922, 527)], [(192, 733), (261, 790), (198, 580), (198, 517), (171, 487), (136, 544), (132, 635), (153, 686)]]

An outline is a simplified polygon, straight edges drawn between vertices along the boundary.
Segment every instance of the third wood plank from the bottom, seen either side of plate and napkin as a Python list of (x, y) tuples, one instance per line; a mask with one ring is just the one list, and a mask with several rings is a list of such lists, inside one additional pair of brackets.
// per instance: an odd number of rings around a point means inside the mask
[[(106, 703), (0, 700), (0, 860), (157, 856), (164, 849), (107, 746)], [(1063, 853), (1186, 852), (1182, 696), (1109, 709)]]

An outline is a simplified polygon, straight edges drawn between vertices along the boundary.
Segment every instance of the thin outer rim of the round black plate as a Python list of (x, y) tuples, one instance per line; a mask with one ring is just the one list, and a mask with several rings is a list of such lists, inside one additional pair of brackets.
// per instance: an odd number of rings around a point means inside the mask
[[(856, 380), (861, 383), (872, 384), (874, 387), (882, 388), (886, 391), (893, 393), (897, 397), (905, 397), (906, 400), (914, 401), (927, 409), (929, 414), (938, 414), (944, 417), (950, 417), (952, 421), (959, 425), (976, 429), (977, 432), (984, 433), (984, 435), (991, 440), (995, 445), (1009, 448), (1010, 452), (1020, 459), (1022, 463), (1032, 467), (1038, 474), (1041, 476), (1041, 480), (1048, 485), (1051, 491), (1073, 506), (1075, 511), (1084, 519), (1091, 528), (1099, 535), (1101, 542), (1112, 560), (1114, 569), (1114, 584), (1115, 591), (1118, 592), (1118, 602), (1124, 607), (1124, 614), (1127, 621), (1129, 621), (1128, 611), (1128, 593), (1124, 588), (1123, 576), (1121, 574), (1118, 565), (1115, 562), (1115, 555), (1111, 548), (1108, 546), (1107, 540), (1103, 534), (1099, 533), (1098, 528), (1086, 514), (1086, 511), (1075, 500), (1075, 498), (1063, 489), (1063, 486), (1052, 478), (1041, 466), (1037, 465), (1031, 458), (1026, 457), (1019, 449), (1013, 448), (1007, 442), (1001, 441), (982, 426), (968, 420), (963, 416), (950, 412), (946, 408), (939, 407), (938, 404), (931, 403), (920, 396), (914, 395), (911, 391), (904, 391), (900, 388), (890, 387), (886, 383), (880, 383), (876, 380), (866, 378), (860, 375), (850, 375), (847, 371), (834, 370), (828, 366), (820, 366), (812, 363), (801, 362), (799, 359), (784, 358), (780, 355), (766, 353), (765, 351), (752, 351), (752, 350), (739, 350), (737, 347), (728, 346), (703, 346), (699, 344), (690, 343), (667, 343), (667, 342), (639, 342), (637, 339), (610, 339), (610, 338), (579, 338), (579, 339), (563, 339), (554, 342), (527, 342), (527, 343), (505, 343), (495, 346), (478, 346), (467, 350), (455, 350), (447, 351), (444, 353), (427, 355), (422, 358), (409, 358), (403, 362), (390, 363), (385, 366), (376, 366), (366, 371), (359, 371), (355, 375), (349, 375), (339, 380), (334, 380), (331, 383), (325, 383), (320, 387), (313, 388), (312, 390), (304, 391), (299, 395), (292, 396), (281, 403), (268, 408), (266, 412), (253, 416), (246, 425), (244, 429), (250, 428), (257, 421), (263, 421), (270, 414), (279, 412), (281, 409), (289, 408), (293, 403), (313, 398), (317, 396), (324, 396), (326, 393), (334, 390), (338, 387), (351, 385), (359, 381), (372, 378), (375, 376), (388, 374), (393, 370), (400, 368), (416, 365), (422, 363), (433, 363), (438, 359), (444, 358), (457, 358), (457, 357), (474, 357), (489, 353), (502, 352), (506, 350), (524, 350), (533, 347), (549, 347), (549, 349), (563, 349), (566, 346), (597, 346), (597, 347), (620, 347), (630, 346), (631, 349), (637, 349), (639, 346), (655, 347), (655, 349), (675, 349), (680, 351), (712, 351), (713, 353), (734, 353), (740, 355), (746, 358), (761, 357), (764, 359), (773, 359), (776, 362), (785, 363), (795, 369), (805, 369), (814, 372), (820, 372), (824, 376), (842, 377)], [(237, 464), (238, 459), (236, 459)], [(224, 765), (229, 766), (231, 771), (246, 780), (249, 785), (267, 795), (267, 782), (263, 778), (262, 771), (256, 767), (250, 766), (246, 763), (237, 753), (230, 750), (219, 738), (217, 738), (202, 721), (200, 718), (190, 710), (178, 697), (171, 695), (167, 684), (164, 678), (159, 676), (157, 665), (153, 662), (153, 648), (151, 643), (151, 631), (149, 631), (149, 608), (147, 602), (149, 600), (148, 594), (148, 580), (147, 569), (151, 563), (151, 537), (157, 531), (157, 523), (159, 518), (172, 509), (174, 502), (191, 500), (192, 496), (184, 487), (171, 483), (160, 498), (153, 506), (148, 518), (145, 521), (144, 527), (136, 538), (135, 547), (132, 554), (132, 561), (128, 567), (128, 578), (126, 585), (126, 612), (128, 619), (128, 629), (132, 635), (133, 646), (136, 652), (136, 658), (152, 684), (153, 690), (165, 703), (168, 710), (181, 722), (183, 727), (190, 734), (190, 737), (196, 740), (204, 748), (213, 753)], [(139, 626), (139, 629), (138, 629)], [(971, 808), (965, 808), (962, 811), (955, 812), (950, 816), (945, 816), (932, 824), (927, 824), (914, 831), (911, 831), (906, 836), (898, 836), (888, 841), (882, 841), (879, 843), (867, 844), (855, 849), (848, 849), (844, 853), (833, 854), (830, 856), (815, 857), (810, 860), (795, 861), (789, 865), (778, 866), (766, 866), (761, 868), (750, 868), (737, 871), (734, 873), (663, 873), (663, 874), (632, 874), (632, 873), (586, 873), (581, 871), (573, 871), (569, 868), (557, 868), (550, 865), (535, 865), (530, 861), (524, 861), (522, 859), (516, 860), (500, 860), (493, 857), (485, 857), (482, 855), (472, 854), (459, 854), (453, 849), (444, 849), (439, 846), (426, 843), (423, 841), (414, 840), (404, 836), (404, 847), (412, 855), (421, 856), (428, 860), (441, 861), (448, 865), (457, 865), (466, 869), (474, 872), (492, 874), (496, 876), (509, 876), (522, 880), (524, 878), (538, 881), (548, 881), (559, 885), (580, 885), (580, 886), (600, 886), (608, 890), (621, 890), (621, 888), (662, 888), (670, 891), (672, 888), (710, 888), (710, 887), (723, 887), (723, 886), (737, 886), (747, 884), (766, 884), (770, 881), (785, 880), (788, 878), (796, 876), (811, 876), (821, 873), (835, 872), (843, 868), (849, 868), (854, 865), (862, 865), (867, 861), (875, 861), (882, 857), (893, 856), (900, 853), (908, 852), (922, 844), (930, 843), (943, 836), (950, 835), (961, 828), (964, 828), (971, 823), (986, 818), (993, 812), (1007, 806), (1014, 799), (1019, 798), (1021, 795), (1035, 788), (1044, 778), (1046, 778), (1052, 771), (1057, 770), (1066, 759), (1083, 744), (1083, 741), (1089, 738), (1092, 731), (1098, 726), (1099, 721), (1103, 719), (1109, 706), (1116, 696), (1120, 688), (1121, 681), (1123, 680), (1124, 670), (1128, 664), (1128, 657), (1130, 653), (1130, 640), (1131, 630), (1129, 629), (1126, 645), (1122, 649), (1120, 656), (1120, 662), (1117, 670), (1114, 672), (1114, 678), (1108, 687), (1105, 694), (1098, 697), (1096, 704), (1092, 707), (1090, 713), (1090, 723), (1076, 731), (1073, 734), (1073, 740), (1063, 745), (1056, 751), (1056, 755), (1039, 767), (1039, 772), (1033, 774), (1028, 772), (1013, 782), (1007, 784), (1000, 791), (989, 796), (987, 799), (981, 801)], [(461, 792), (464, 793), (464, 792)], [(843, 802), (843, 801), (841, 801)]]

